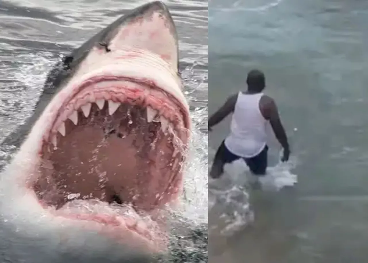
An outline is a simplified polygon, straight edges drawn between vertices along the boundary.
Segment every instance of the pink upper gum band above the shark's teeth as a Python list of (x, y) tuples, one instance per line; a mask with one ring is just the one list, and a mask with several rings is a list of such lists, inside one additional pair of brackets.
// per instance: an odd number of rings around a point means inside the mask
[[(111, 82), (111, 86), (106, 87), (104, 84), (106, 82)], [(118, 85), (119, 83), (120, 85)], [(121, 85), (121, 83), (124, 84)], [(104, 87), (101, 88), (101, 86)], [(45, 141), (49, 141), (52, 127), (58, 127), (61, 122), (66, 121), (72, 111), (98, 99), (149, 105), (175, 125), (176, 131), (179, 133), (180, 138), (184, 139), (183, 141), (186, 141), (188, 138), (188, 131), (185, 130), (190, 125), (187, 111), (183, 109), (182, 104), (176, 98), (157, 87), (152, 80), (98, 76), (84, 81), (75, 87), (73, 91), (65, 95), (62, 93), (57, 94), (64, 103), (60, 109), (52, 109), (52, 111), (57, 111), (57, 117), (49, 129), (46, 130), (44, 135)], [(52, 132), (56, 132), (55, 128)]]

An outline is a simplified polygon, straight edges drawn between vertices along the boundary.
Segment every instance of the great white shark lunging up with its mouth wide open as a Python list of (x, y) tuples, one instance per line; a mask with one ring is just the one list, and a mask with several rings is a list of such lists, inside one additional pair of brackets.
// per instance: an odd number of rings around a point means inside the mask
[(162, 211), (183, 189), (190, 140), (182, 90), (177, 31), (160, 1), (64, 56), (33, 115), (3, 141), (19, 146), (0, 174), (4, 220), (63, 245), (102, 238), (164, 252)]

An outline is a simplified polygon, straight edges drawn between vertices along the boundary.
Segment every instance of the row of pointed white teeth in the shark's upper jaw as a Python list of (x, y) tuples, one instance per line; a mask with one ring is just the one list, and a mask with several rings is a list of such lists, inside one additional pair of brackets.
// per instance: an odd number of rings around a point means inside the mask
[[(120, 102), (114, 102), (111, 100), (108, 100), (108, 112), (109, 115), (113, 115), (116, 110), (118, 109), (118, 107), (120, 106)], [(105, 100), (100, 99), (100, 100), (96, 100), (95, 101), (96, 105), (98, 106), (98, 108), (100, 110), (103, 109), (104, 105), (105, 105)], [(84, 105), (82, 105), (81, 110), (83, 112), (83, 115), (87, 118), (89, 116), (89, 114), (91, 113), (91, 108), (92, 108), (92, 103), (86, 103)], [(161, 130), (162, 132), (166, 132), (167, 129), (170, 129), (170, 132), (172, 131), (172, 125), (171, 123), (162, 115), (158, 115), (158, 111), (153, 109), (151, 106), (147, 106), (146, 108), (146, 118), (147, 118), (147, 122), (152, 122), (156, 116), (159, 116), (159, 121), (161, 122)], [(72, 113), (68, 116), (68, 119), (71, 120), (74, 125), (78, 124), (78, 112), (77, 110), (72, 111)], [(66, 135), (66, 127), (65, 127), (65, 123), (61, 122), (61, 124), (59, 125), (59, 127), (57, 127), (56, 129), (57, 132), (59, 132), (62, 136)], [(53, 136), (52, 138), (52, 143), (53, 145), (56, 147), (56, 136)]]

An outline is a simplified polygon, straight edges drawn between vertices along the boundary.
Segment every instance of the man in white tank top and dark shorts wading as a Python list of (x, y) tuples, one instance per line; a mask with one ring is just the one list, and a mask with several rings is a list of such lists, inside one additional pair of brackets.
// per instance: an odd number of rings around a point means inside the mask
[(251, 70), (247, 77), (248, 90), (230, 96), (225, 104), (208, 120), (208, 129), (233, 113), (231, 132), (217, 149), (210, 177), (219, 178), (224, 165), (243, 158), (251, 172), (266, 174), (267, 152), (266, 124), (270, 122), (277, 140), (284, 148), (282, 161), (289, 160), (290, 149), (287, 136), (280, 121), (275, 101), (262, 93), (265, 75)]

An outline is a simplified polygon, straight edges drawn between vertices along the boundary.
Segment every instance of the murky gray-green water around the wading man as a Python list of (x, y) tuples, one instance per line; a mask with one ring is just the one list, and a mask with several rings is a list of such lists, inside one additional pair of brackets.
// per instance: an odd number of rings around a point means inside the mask
[[(210, 232), (209, 260), (367, 262), (368, 2), (270, 2), (209, 1), (209, 114), (244, 89), (250, 69), (263, 70), (298, 184), (251, 192), (254, 224), (231, 237)], [(229, 118), (209, 134), (210, 156), (228, 131)]]

